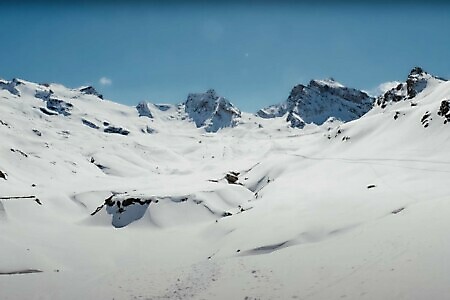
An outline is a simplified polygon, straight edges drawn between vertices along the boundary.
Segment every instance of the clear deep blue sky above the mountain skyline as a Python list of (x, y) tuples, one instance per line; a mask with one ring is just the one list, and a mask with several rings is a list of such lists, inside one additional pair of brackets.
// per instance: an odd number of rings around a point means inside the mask
[(2, 3), (0, 77), (91, 84), (127, 105), (214, 88), (248, 112), (312, 78), (373, 90), (416, 65), (450, 77), (445, 1), (88, 3)]

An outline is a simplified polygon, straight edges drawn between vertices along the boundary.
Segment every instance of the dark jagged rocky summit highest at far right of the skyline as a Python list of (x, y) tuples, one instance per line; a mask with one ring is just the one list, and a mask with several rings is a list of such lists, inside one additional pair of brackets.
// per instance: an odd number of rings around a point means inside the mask
[(376, 104), (385, 108), (390, 103), (412, 99), (428, 86), (445, 81), (447, 80), (425, 72), (421, 67), (414, 67), (405, 82), (379, 96)]

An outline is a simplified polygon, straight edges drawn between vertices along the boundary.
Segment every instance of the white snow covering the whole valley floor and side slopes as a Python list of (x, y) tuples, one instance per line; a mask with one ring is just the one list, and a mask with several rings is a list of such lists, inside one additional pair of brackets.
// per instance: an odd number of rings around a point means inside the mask
[(20, 82), (0, 81), (0, 299), (450, 293), (450, 82), (345, 124), (217, 133)]

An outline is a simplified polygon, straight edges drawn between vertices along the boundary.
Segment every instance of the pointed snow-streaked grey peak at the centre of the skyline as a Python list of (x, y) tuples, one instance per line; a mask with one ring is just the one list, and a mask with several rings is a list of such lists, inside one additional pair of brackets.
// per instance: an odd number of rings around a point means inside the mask
[(184, 102), (184, 111), (198, 128), (203, 127), (207, 132), (234, 127), (241, 117), (241, 111), (213, 89), (189, 94)]

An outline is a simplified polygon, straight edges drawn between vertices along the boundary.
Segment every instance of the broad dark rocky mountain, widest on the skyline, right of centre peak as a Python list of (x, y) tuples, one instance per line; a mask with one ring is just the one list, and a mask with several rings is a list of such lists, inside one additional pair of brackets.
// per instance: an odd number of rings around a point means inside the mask
[(374, 100), (333, 78), (311, 80), (307, 86), (294, 86), (286, 101), (261, 109), (257, 115), (262, 118), (285, 117), (291, 127), (303, 128), (306, 123), (323, 124), (331, 117), (343, 122), (357, 119), (372, 108)]

